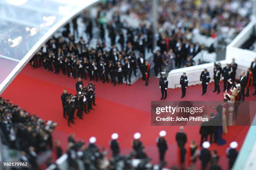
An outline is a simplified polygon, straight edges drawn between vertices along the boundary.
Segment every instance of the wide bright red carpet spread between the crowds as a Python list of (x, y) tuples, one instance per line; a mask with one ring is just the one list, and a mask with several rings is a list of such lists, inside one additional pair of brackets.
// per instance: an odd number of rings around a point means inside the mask
[[(141, 140), (146, 146), (146, 153), (152, 158), (153, 163), (158, 163), (159, 156), (156, 148), (156, 138), (160, 130), (166, 130), (166, 140), (169, 150), (166, 153), (167, 167), (177, 165), (175, 142), (175, 134), (179, 127), (151, 126), (150, 103), (151, 100), (159, 100), (161, 92), (158, 87), (159, 79), (151, 77), (149, 86), (144, 86), (144, 81), (138, 80), (132, 86), (112, 84), (102, 84), (95, 82), (96, 85), (96, 104), (95, 110), (89, 115), (84, 115), (84, 120), (75, 120), (75, 125), (71, 128), (67, 126), (67, 120), (62, 117), (62, 106), (60, 96), (65, 88), (69, 93), (75, 92), (76, 80), (68, 78), (64, 75), (55, 75), (40, 69), (31, 69), (28, 65), (13, 80), (8, 88), (3, 92), (2, 96), (10, 99), (13, 103), (26, 109), (28, 112), (35, 113), (44, 120), (53, 120), (58, 122), (54, 131), (54, 140), (61, 140), (63, 148), (67, 147), (67, 136), (69, 133), (75, 133), (77, 140), (88, 141), (90, 136), (97, 138), (97, 145), (109, 148), (108, 142), (112, 133), (119, 133), (121, 153), (129, 153), (133, 134), (141, 133)], [(84, 84), (89, 82), (83, 80)], [(219, 101), (223, 95), (220, 93), (212, 93), (213, 83), (208, 85), (208, 92), (201, 96), (201, 86), (188, 87), (187, 95), (183, 100), (205, 100)], [(168, 89), (167, 100), (181, 100), (181, 90)], [(246, 100), (255, 100), (254, 96), (247, 97)], [(197, 144), (200, 142), (199, 128), (197, 126), (184, 127), (188, 136), (188, 144), (191, 140), (195, 140)], [(217, 146), (213, 144), (210, 149), (218, 150), (220, 155), (220, 165), (223, 169), (227, 169), (228, 160), (225, 150), (229, 143), (233, 140), (238, 141), (239, 147), (243, 143), (249, 127), (232, 126), (228, 128), (228, 134), (223, 135), (227, 141), (226, 145)], [(200, 162), (197, 162), (200, 167)]]

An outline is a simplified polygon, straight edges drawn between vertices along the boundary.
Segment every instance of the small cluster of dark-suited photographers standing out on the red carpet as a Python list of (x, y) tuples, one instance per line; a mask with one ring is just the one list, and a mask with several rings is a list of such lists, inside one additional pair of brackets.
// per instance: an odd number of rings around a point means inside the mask
[(82, 79), (78, 77), (75, 84), (77, 93), (72, 95), (68, 94), (67, 90), (64, 89), (61, 95), (61, 102), (63, 107), (63, 117), (68, 119), (68, 126), (70, 123), (75, 124), (74, 114), (77, 109), (77, 117), (83, 119), (83, 112), (88, 114), (90, 110), (94, 110), (92, 105), (95, 104), (95, 85), (89, 82), (87, 86), (84, 86)]

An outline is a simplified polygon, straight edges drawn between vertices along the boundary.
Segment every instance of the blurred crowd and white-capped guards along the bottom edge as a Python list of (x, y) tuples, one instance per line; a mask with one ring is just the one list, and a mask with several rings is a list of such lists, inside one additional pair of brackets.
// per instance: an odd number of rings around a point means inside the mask
[[(218, 113), (217, 113), (218, 114)], [(201, 132), (201, 130), (200, 130)], [(72, 133), (68, 138), (68, 149), (67, 149), (67, 161), (70, 170), (76, 170), (78, 167), (78, 160), (82, 161), (85, 169), (97, 170), (97, 169), (138, 169), (138, 170), (151, 170), (154, 168), (164, 168), (166, 165), (165, 154), (168, 150), (168, 142), (165, 139), (166, 131), (161, 130), (159, 137), (156, 139), (156, 146), (159, 151), (159, 164), (153, 165), (151, 158), (148, 157), (145, 151), (143, 142), (140, 140), (141, 133), (135, 133), (132, 142), (132, 150), (128, 155), (122, 155), (120, 153), (120, 145), (118, 143), (119, 135), (113, 133), (109, 143), (109, 150), (106, 148), (100, 148), (96, 145), (97, 139), (91, 137), (88, 143), (84, 141), (76, 141), (75, 135)], [(217, 150), (209, 150), (211, 143), (208, 141), (203, 142), (201, 145), (197, 145), (195, 140), (192, 140), (188, 145), (188, 139), (186, 133), (184, 133), (184, 127), (179, 128), (179, 132), (176, 133), (177, 142), (177, 166), (173, 166), (172, 170), (185, 169), (189, 170), (196, 169), (196, 162), (200, 160), (202, 170), (221, 170), (222, 168), (218, 165), (220, 156)], [(59, 141), (56, 141), (56, 156), (60, 158), (63, 150), (59, 145)], [(214, 141), (215, 143), (215, 141)], [(230, 143), (230, 147), (227, 148), (226, 154), (229, 160), (229, 169), (233, 167), (238, 151), (237, 142)], [(202, 148), (201, 148), (202, 147)], [(110, 155), (110, 150), (112, 155)], [(187, 164), (186, 164), (187, 163)]]

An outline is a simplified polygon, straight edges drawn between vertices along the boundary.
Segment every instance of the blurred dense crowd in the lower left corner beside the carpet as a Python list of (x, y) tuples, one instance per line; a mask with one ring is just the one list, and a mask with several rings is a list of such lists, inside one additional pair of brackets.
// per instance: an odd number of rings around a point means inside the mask
[[(30, 115), (9, 100), (0, 97), (0, 139), (12, 150), (18, 150), (15, 160), (29, 162), (38, 168), (40, 153), (53, 149), (52, 135), (57, 123)], [(7, 156), (7, 155), (5, 155)]]

